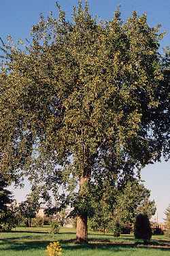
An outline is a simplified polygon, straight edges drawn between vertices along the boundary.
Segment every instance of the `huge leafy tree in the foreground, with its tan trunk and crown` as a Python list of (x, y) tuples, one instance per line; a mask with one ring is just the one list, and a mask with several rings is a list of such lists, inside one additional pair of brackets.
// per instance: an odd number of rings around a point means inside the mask
[(63, 186), (81, 242), (97, 176), (160, 159), (169, 120), (162, 125), (169, 106), (158, 53), (163, 35), (146, 14), (133, 12), (123, 23), (116, 11), (98, 22), (79, 1), (67, 21), (58, 9), (58, 18), (41, 16), (25, 49), (10, 37), (1, 41), (0, 164), (9, 175), (44, 180), (55, 195)]

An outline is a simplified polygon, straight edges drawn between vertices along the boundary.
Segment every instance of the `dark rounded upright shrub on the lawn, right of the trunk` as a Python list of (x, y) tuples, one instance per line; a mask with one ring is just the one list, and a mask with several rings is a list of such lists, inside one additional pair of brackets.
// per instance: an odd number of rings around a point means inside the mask
[(142, 239), (144, 242), (150, 241), (150, 238), (152, 237), (152, 229), (147, 215), (137, 215), (134, 226), (134, 235), (136, 239)]

